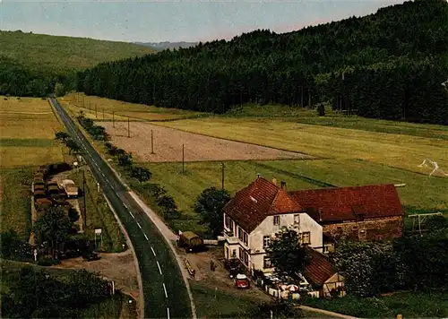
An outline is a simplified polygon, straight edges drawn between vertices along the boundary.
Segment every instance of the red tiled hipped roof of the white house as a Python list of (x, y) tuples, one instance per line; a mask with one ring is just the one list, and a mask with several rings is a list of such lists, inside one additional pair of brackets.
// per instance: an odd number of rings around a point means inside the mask
[(286, 191), (260, 177), (237, 192), (223, 211), (250, 233), (269, 215), (303, 210)]

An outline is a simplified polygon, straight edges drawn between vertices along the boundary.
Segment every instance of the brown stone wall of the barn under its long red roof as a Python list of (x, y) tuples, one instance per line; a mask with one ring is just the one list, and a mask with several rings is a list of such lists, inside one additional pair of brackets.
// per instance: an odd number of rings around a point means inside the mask
[(401, 237), (401, 216), (323, 225), (323, 234), (338, 239), (383, 240)]

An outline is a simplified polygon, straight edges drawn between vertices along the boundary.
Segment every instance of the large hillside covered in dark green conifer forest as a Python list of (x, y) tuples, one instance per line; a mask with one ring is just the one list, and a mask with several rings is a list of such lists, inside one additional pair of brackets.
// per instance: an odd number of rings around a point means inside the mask
[[(297, 4), (299, 5), (299, 4)], [(448, 124), (448, 3), (415, 1), (304, 30), (256, 30), (78, 73), (87, 94), (165, 108), (330, 101), (359, 116)]]

